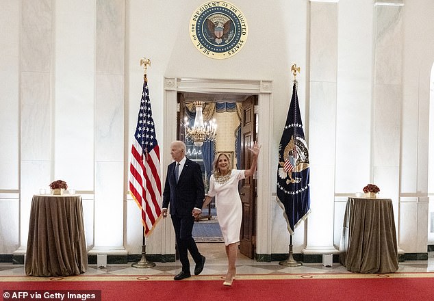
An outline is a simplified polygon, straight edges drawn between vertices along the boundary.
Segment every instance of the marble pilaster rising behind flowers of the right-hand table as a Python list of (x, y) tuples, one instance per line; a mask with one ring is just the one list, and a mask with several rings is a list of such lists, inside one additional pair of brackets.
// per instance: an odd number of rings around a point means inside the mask
[(372, 112), (372, 183), (392, 198), (398, 215), (402, 94), (403, 6), (374, 6), (374, 96)]

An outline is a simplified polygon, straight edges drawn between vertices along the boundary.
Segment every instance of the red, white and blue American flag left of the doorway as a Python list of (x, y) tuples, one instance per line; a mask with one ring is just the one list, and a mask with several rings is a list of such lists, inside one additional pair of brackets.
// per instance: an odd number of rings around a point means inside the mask
[(162, 184), (159, 179), (159, 147), (155, 137), (148, 79), (144, 75), (136, 133), (131, 146), (129, 193), (142, 211), (144, 236), (151, 234), (161, 215)]

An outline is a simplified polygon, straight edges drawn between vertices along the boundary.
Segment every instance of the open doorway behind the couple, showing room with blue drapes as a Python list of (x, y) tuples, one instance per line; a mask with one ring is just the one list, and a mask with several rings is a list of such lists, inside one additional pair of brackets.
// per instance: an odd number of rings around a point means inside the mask
[[(252, 156), (248, 148), (253, 147), (256, 140), (254, 107), (257, 104), (257, 95), (178, 92), (177, 100), (177, 140), (186, 143), (186, 157), (201, 166), (205, 194), (216, 154), (225, 153), (231, 168), (243, 170), (251, 165)], [(197, 141), (189, 133), (196, 122), (209, 129), (208, 135), (200, 136), (200, 145), (196, 145)], [(218, 130), (211, 130), (215, 128), (209, 126), (210, 122), (216, 125)], [(251, 177), (239, 183), (242, 204), (240, 252), (249, 258), (254, 258), (255, 254), (255, 184), (255, 179)], [(222, 241), (216, 210), (213, 200), (209, 207), (203, 210), (201, 217), (196, 218), (193, 228), (196, 241)]]

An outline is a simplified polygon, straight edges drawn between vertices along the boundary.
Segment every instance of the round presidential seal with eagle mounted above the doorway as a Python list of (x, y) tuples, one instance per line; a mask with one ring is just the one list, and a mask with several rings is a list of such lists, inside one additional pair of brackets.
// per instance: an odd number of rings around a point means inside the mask
[(226, 59), (240, 52), (247, 39), (242, 12), (226, 1), (199, 6), (190, 20), (190, 38), (197, 50), (213, 59)]

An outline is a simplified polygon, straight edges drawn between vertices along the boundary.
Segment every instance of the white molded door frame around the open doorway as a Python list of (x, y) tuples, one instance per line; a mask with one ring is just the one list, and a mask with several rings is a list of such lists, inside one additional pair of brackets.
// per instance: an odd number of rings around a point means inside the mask
[[(224, 93), (256, 94), (258, 96), (257, 137), (261, 145), (257, 165), (257, 202), (256, 202), (256, 254), (271, 254), (271, 183), (275, 183), (272, 168), (272, 81), (240, 79), (202, 79), (190, 77), (164, 77), (164, 145), (169, 146), (177, 139), (177, 93)], [(260, 113), (259, 113), (260, 112)], [(172, 158), (167, 151), (162, 155), (162, 166), (168, 166)], [(166, 168), (163, 177), (166, 179)], [(164, 226), (162, 254), (173, 254), (175, 232), (173, 227)]]

